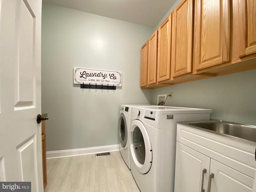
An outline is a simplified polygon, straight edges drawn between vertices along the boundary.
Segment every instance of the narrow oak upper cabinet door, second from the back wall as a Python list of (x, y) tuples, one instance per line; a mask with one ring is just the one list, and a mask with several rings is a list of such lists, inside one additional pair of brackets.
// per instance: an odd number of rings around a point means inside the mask
[(148, 39), (148, 85), (156, 83), (157, 31)]

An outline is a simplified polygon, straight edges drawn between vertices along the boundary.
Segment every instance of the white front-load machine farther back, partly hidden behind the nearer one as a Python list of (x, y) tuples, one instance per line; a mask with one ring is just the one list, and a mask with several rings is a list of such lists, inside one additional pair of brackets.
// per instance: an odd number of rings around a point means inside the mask
[(139, 106), (154, 106), (154, 105), (121, 105), (120, 112), (119, 112), (119, 122), (118, 122), (118, 136), (119, 136), (119, 149), (121, 156), (130, 168), (130, 124), (131, 121), (135, 119), (135, 117), (131, 118), (130, 112), (132, 107), (139, 107)]

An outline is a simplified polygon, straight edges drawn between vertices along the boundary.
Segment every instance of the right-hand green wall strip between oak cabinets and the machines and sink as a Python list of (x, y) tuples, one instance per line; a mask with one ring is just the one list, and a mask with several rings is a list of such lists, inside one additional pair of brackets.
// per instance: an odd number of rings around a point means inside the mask
[(152, 104), (158, 94), (173, 92), (168, 106), (209, 108), (210, 118), (256, 125), (256, 70), (212, 77), (153, 90)]

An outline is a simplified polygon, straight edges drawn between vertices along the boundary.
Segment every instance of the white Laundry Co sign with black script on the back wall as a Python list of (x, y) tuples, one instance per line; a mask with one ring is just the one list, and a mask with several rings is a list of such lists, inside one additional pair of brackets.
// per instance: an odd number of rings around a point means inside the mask
[(122, 86), (122, 73), (74, 67), (74, 84)]

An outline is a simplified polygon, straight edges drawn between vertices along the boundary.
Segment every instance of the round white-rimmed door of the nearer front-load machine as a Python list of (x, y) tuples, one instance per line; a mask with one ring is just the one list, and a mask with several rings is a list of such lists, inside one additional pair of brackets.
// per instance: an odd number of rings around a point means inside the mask
[(148, 132), (140, 120), (132, 122), (130, 150), (137, 170), (142, 174), (146, 174), (152, 164), (152, 146)]

